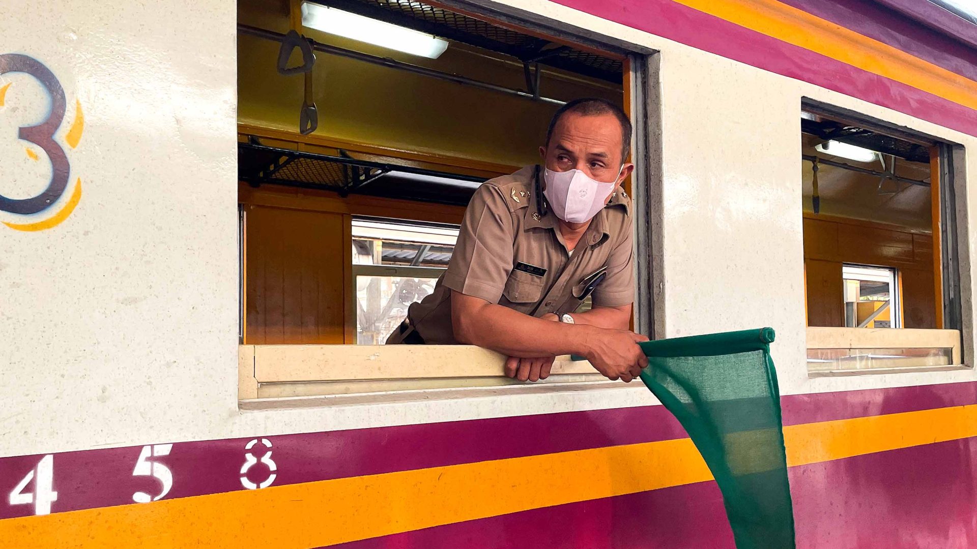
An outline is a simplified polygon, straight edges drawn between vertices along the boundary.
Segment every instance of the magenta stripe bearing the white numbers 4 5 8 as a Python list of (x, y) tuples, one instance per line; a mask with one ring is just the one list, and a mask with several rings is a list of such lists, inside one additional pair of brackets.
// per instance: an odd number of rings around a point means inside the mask
[[(977, 402), (977, 382), (873, 391), (796, 395), (782, 399), (786, 425), (898, 413)], [(685, 438), (662, 406), (542, 414), (267, 437), (276, 463), (274, 486), (359, 477), (539, 455), (628, 443)], [(244, 489), (239, 470), (250, 439), (175, 443), (169, 455), (154, 458), (174, 478), (166, 498)], [(256, 443), (251, 453), (265, 451)], [(132, 475), (142, 446), (56, 454), (56, 512), (132, 503), (132, 494), (158, 493), (154, 479)], [(0, 480), (16, 486), (41, 455), (0, 459)], [(259, 462), (247, 473), (251, 483), (269, 478)], [(9, 489), (9, 488), (8, 488)], [(0, 498), (0, 519), (32, 513), (27, 505)]]

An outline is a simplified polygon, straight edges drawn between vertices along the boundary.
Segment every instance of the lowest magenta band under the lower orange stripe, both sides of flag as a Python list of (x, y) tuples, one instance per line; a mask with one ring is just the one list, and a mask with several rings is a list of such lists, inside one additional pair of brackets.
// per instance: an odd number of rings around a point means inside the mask
[[(790, 469), (800, 549), (977, 547), (977, 439)], [(635, 472), (654, 474), (654, 472)], [(431, 512), (437, 513), (437, 510)], [(335, 549), (733, 549), (714, 482), (426, 528)]]

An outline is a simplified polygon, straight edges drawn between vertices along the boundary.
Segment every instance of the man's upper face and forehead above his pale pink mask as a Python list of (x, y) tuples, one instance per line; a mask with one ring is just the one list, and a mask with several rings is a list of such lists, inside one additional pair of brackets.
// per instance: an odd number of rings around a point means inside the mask
[(619, 184), (634, 168), (633, 164), (624, 164), (621, 169), (620, 148), (620, 123), (614, 114), (568, 112), (560, 117), (549, 145), (540, 147), (539, 153), (546, 168), (554, 172), (575, 168), (596, 181)]

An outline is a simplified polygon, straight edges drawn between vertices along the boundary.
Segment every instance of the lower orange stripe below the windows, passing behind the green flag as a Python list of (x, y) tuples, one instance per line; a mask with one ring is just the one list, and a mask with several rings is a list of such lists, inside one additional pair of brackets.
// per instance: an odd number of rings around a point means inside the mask
[[(977, 404), (785, 428), (802, 465), (977, 436)], [(688, 439), (0, 521), (13, 547), (316, 547), (711, 479)]]

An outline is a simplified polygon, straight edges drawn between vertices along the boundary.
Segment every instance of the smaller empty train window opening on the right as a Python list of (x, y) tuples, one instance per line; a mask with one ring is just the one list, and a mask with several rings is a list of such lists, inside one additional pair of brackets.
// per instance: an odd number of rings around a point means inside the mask
[(962, 364), (953, 146), (813, 102), (801, 144), (810, 374)]

